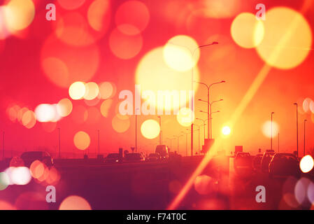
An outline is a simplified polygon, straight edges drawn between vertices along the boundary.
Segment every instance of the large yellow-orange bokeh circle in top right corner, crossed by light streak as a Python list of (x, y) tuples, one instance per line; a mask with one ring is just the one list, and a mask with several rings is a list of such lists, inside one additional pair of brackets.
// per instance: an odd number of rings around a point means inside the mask
[(301, 13), (291, 8), (276, 7), (266, 12), (265, 34), (257, 53), (269, 65), (292, 69), (308, 56), (312, 31)]

